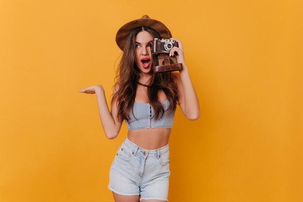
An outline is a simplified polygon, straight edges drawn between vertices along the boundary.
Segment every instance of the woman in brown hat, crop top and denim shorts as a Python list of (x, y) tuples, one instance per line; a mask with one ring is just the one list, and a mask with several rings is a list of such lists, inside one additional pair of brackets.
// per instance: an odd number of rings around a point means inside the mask
[[(123, 51), (118, 81), (113, 90), (111, 111), (102, 85), (79, 89), (96, 93), (100, 119), (106, 137), (118, 136), (122, 121), (129, 129), (121, 143), (109, 172), (108, 188), (115, 202), (165, 202), (168, 196), (168, 140), (176, 105), (190, 120), (200, 116), (197, 94), (184, 62), (182, 42), (171, 38), (160, 21), (142, 16), (123, 25), (116, 35)], [(173, 47), (182, 70), (153, 74), (152, 41), (154, 38), (174, 39)]]

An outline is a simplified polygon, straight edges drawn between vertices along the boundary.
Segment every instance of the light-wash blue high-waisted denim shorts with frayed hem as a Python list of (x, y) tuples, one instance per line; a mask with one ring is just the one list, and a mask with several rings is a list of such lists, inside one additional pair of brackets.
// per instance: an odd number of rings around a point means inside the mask
[(111, 164), (108, 188), (121, 195), (140, 195), (140, 201), (168, 201), (169, 176), (168, 144), (146, 150), (126, 137)]

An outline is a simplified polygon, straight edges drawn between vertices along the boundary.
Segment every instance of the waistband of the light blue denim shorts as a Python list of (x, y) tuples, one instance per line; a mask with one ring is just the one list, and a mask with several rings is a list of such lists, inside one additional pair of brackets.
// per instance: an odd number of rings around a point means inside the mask
[(161, 147), (159, 149), (153, 149), (153, 150), (147, 150), (144, 149), (142, 147), (139, 147), (138, 145), (136, 145), (134, 142), (132, 142), (131, 140), (129, 140), (126, 136), (126, 138), (124, 139), (123, 143), (131, 150), (133, 150), (134, 154), (136, 155), (136, 153), (138, 153), (139, 155), (143, 155), (143, 156), (157, 156), (159, 157), (161, 154), (166, 153), (169, 148), (168, 148), (168, 144), (165, 145), (164, 147)]

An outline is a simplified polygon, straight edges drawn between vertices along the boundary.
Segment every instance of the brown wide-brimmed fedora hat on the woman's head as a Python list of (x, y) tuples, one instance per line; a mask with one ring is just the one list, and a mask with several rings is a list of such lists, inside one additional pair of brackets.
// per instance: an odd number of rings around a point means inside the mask
[(155, 31), (157, 31), (160, 34), (162, 39), (169, 39), (172, 37), (167, 26), (165, 26), (162, 22), (155, 20), (155, 19), (151, 19), (149, 16), (144, 15), (139, 19), (132, 20), (132, 21), (126, 23), (118, 30), (118, 32), (116, 34), (116, 43), (122, 51), (125, 46), (125, 42), (126, 42), (129, 32), (132, 29), (134, 29), (136, 27), (141, 27), (141, 26), (150, 27), (150, 28), (154, 29)]

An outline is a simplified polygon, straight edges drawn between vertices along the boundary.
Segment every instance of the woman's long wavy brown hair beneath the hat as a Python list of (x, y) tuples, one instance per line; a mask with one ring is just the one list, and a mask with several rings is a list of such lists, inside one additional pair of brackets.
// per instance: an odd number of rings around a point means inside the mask
[[(133, 110), (135, 102), (137, 82), (140, 78), (140, 70), (135, 62), (135, 39), (137, 33), (140, 31), (148, 31), (152, 34), (153, 38), (161, 39), (159, 33), (149, 27), (137, 27), (130, 31), (123, 48), (123, 54), (115, 78), (115, 85), (118, 85), (119, 89), (113, 94), (111, 100), (111, 102), (113, 102), (113, 100), (117, 98), (118, 119), (120, 121), (129, 121), (129, 113)], [(154, 65), (153, 61), (152, 65)], [(153, 82), (152, 85), (147, 88), (147, 94), (155, 113), (152, 118), (160, 119), (165, 113), (165, 109), (158, 98), (160, 90), (163, 90), (169, 101), (168, 114), (174, 112), (179, 102), (178, 90), (170, 72), (153, 74), (151, 69), (150, 74), (152, 75), (151, 79)]]

